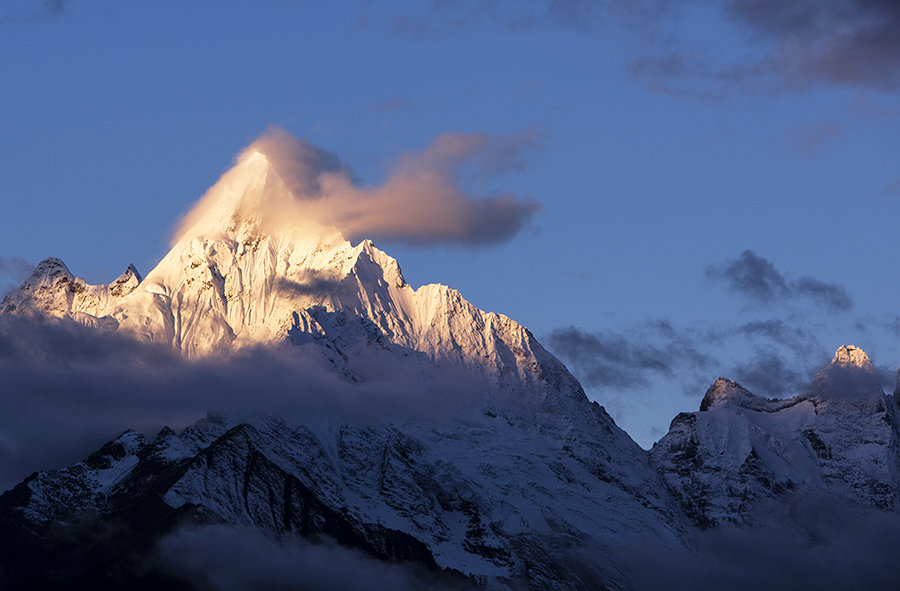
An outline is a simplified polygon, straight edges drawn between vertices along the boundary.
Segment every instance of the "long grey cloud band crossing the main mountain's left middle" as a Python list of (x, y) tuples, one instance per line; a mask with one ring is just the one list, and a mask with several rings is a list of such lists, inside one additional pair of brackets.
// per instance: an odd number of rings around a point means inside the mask
[(189, 361), (71, 322), (0, 319), (0, 490), (78, 462), (126, 429), (152, 437), (210, 412), (239, 420), (477, 420), (469, 402), (485, 387), (478, 376), (372, 349), (354, 352), (353, 367), (368, 377), (354, 383), (314, 343)]

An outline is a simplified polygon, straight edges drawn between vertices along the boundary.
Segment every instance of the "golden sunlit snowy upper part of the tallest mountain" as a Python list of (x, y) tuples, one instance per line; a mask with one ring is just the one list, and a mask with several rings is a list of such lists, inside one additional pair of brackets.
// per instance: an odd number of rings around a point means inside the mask
[[(512, 381), (535, 379), (537, 366), (560, 373), (559, 362), (519, 324), (476, 309), (446, 286), (413, 289), (397, 261), (371, 241), (351, 244), (320, 223), (309, 210), (321, 184), (346, 176), (334, 155), (266, 137), (185, 216), (171, 250), (142, 281), (131, 273), (91, 286), (48, 259), (38, 269), (42, 278), (9, 294), (0, 310), (116, 326), (188, 357), (301, 334), (329, 339), (325, 315), (345, 314), (433, 359), (478, 366), (488, 360)], [(45, 267), (56, 266), (62, 275), (47, 275)], [(86, 303), (73, 289), (96, 297)], [(107, 291), (109, 297), (101, 293)]]

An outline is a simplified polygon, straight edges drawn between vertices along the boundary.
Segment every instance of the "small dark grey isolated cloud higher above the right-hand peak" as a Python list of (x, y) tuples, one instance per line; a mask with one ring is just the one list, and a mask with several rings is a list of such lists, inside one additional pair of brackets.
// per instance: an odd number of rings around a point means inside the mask
[(752, 250), (745, 250), (737, 259), (707, 267), (706, 276), (724, 282), (729, 291), (757, 304), (775, 304), (800, 297), (831, 312), (853, 308), (853, 299), (843, 286), (813, 277), (789, 280), (771, 261)]

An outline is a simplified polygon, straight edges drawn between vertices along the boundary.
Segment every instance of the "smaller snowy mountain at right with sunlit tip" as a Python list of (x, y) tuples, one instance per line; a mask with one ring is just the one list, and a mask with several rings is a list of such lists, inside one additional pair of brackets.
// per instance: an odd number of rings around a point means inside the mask
[(701, 525), (754, 523), (785, 495), (828, 493), (894, 509), (898, 408), (868, 356), (841, 347), (807, 391), (767, 400), (719, 378), (650, 454)]

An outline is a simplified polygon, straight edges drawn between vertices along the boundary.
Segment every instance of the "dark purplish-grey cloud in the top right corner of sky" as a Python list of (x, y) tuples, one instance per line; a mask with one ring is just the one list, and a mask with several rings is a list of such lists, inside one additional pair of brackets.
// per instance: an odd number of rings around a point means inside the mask
[[(718, 23), (721, 39), (697, 42), (687, 33), (710, 21)], [(648, 22), (632, 71), (651, 88), (710, 96), (738, 89), (900, 86), (900, 4), (894, 0), (679, 2), (669, 17)]]

